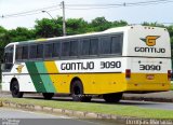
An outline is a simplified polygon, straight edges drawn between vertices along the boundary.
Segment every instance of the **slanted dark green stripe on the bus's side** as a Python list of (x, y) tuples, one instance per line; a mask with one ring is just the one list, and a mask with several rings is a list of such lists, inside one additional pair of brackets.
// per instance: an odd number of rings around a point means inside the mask
[(42, 80), (41, 80), (39, 73), (38, 73), (38, 70), (37, 70), (35, 63), (28, 61), (28, 63), (26, 63), (26, 67), (28, 69), (28, 72), (30, 74), (30, 78), (32, 80), (32, 83), (35, 85), (36, 91), (45, 93), (46, 92), (45, 87), (42, 83)]

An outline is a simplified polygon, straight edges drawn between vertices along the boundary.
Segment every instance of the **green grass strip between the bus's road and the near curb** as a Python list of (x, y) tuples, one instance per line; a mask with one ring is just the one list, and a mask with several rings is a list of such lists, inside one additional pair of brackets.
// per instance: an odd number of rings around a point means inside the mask
[(58, 100), (42, 100), (42, 99), (27, 99), (27, 98), (0, 98), (0, 100), (9, 100), (19, 103), (39, 105), (59, 109), (69, 109), (75, 111), (88, 111), (105, 114), (116, 114), (136, 117), (149, 119), (173, 119), (173, 111), (138, 108), (135, 106), (125, 105), (109, 105), (109, 103), (94, 103), (94, 102), (72, 102)]

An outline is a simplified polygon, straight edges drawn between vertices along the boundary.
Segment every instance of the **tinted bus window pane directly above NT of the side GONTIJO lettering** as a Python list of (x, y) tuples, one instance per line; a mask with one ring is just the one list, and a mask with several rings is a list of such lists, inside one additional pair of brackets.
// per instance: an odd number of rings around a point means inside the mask
[(78, 56), (78, 41), (70, 41), (70, 56)]

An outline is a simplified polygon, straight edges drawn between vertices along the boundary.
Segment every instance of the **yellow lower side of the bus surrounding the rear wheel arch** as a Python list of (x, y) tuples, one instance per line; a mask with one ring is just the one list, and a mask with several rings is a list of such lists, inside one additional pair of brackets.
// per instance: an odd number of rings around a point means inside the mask
[(57, 93), (70, 92), (70, 82), (74, 78), (79, 78), (83, 84), (84, 94), (108, 94), (127, 91), (124, 73), (72, 73), (72, 74), (51, 74), (56, 78)]

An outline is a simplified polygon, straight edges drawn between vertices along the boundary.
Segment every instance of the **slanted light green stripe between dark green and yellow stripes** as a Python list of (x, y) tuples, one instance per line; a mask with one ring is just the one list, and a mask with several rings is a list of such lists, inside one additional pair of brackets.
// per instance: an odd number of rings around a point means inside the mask
[(40, 78), (44, 84), (44, 87), (48, 93), (55, 93), (55, 88), (53, 86), (53, 83), (51, 81), (50, 75), (48, 74), (48, 71), (45, 69), (44, 63), (36, 63), (36, 67), (38, 70), (38, 73), (40, 74)]

